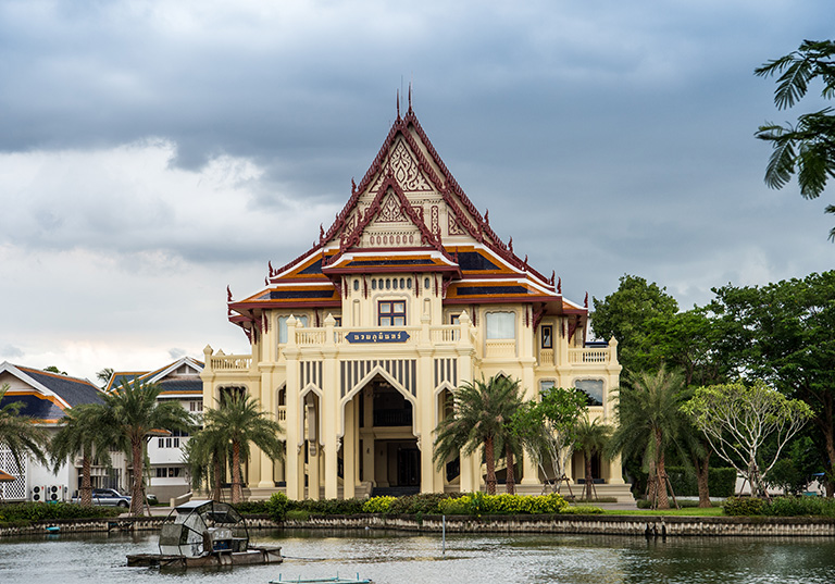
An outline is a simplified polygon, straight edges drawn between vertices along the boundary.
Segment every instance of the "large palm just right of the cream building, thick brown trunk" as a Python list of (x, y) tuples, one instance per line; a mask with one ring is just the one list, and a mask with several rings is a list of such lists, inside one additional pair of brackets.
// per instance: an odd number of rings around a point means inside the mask
[(610, 456), (643, 453), (653, 508), (670, 508), (664, 453), (685, 431), (681, 407), (688, 397), (681, 373), (661, 368), (657, 373), (632, 374), (615, 405), (618, 427), (607, 451)]

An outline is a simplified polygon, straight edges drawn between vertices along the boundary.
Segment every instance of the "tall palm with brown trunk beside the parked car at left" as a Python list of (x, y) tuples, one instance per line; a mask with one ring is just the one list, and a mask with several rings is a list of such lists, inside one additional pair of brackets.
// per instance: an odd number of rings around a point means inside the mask
[(116, 432), (117, 444), (130, 453), (134, 469), (130, 487), (130, 513), (142, 514), (145, 502), (145, 450), (153, 433), (189, 431), (191, 417), (176, 401), (157, 401), (162, 388), (138, 377), (125, 380), (104, 395), (104, 418)]

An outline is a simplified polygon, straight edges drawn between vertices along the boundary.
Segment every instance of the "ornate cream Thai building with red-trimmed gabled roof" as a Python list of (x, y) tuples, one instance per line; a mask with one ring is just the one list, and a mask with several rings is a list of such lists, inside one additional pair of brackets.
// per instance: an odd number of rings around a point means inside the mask
[[(450, 392), (482, 376), (520, 380), (527, 398), (576, 387), (593, 417), (611, 420), (615, 343), (586, 344), (587, 301), (564, 298), (553, 274), (496, 235), (409, 101), (319, 243), (270, 265), (256, 294), (228, 295), (251, 353), (205, 348), (207, 408), (244, 388), (285, 427), (283, 462), (258, 453), (248, 462), (252, 498), (483, 488), (479, 457), (433, 462)], [(598, 495), (631, 498), (619, 460), (594, 467)], [(570, 479), (583, 469), (576, 453)], [(541, 492), (546, 477), (527, 458), (516, 472), (520, 492)]]

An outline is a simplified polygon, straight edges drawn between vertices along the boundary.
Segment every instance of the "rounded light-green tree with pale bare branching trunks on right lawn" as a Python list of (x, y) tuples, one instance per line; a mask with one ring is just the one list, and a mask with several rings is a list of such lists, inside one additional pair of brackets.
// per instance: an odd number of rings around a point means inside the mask
[[(713, 450), (748, 481), (756, 495), (765, 495), (764, 475), (786, 443), (812, 418), (807, 403), (787, 399), (762, 381), (751, 386), (700, 387), (682, 411), (693, 418)], [(763, 460), (763, 445), (772, 435), (776, 448)]]

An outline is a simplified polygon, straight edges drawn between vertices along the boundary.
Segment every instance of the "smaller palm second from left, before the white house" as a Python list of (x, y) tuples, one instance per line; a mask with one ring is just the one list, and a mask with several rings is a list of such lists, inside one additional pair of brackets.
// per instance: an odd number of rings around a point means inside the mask
[(105, 464), (110, 463), (110, 445), (117, 440), (113, 427), (105, 421), (105, 410), (100, 403), (84, 403), (70, 410), (62, 420), (63, 426), (52, 436), (50, 443), (50, 462), (53, 472), (71, 457), (82, 455), (83, 507), (92, 506), (92, 484), (90, 467), (94, 453)]

